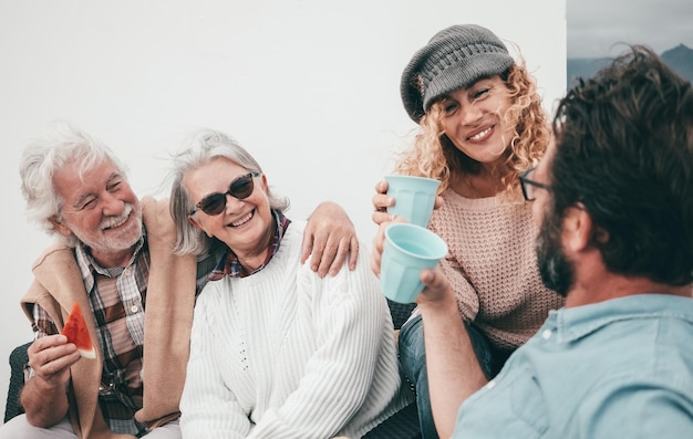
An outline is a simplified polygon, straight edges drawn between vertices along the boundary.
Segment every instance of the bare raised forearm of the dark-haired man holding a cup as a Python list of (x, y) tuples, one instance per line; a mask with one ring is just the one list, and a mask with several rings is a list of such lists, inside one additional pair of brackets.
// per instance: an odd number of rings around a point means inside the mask
[(451, 437), (462, 403), (482, 388), (486, 376), (459, 316), (454, 296), (423, 305), (424, 343), (431, 409), (439, 437)]

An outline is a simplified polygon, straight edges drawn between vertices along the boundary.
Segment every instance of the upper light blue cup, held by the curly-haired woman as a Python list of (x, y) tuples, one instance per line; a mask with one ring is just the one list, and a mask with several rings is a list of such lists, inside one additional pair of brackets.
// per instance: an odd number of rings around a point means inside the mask
[(387, 208), (387, 213), (406, 219), (413, 224), (428, 226), (435, 205), (435, 196), (441, 181), (433, 178), (391, 175), (385, 176), (387, 195), (395, 205)]

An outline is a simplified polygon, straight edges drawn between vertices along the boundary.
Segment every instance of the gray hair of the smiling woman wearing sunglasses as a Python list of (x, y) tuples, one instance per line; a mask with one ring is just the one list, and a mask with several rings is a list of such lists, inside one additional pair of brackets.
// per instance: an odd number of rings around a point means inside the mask
[[(214, 130), (200, 129), (194, 133), (184, 143), (185, 149), (173, 156), (172, 187), (170, 187), (170, 216), (176, 224), (175, 254), (205, 254), (214, 245), (216, 238), (194, 227), (188, 221), (188, 216), (195, 206), (195, 200), (188, 194), (184, 179), (185, 176), (211, 160), (225, 157), (242, 166), (248, 171), (262, 173), (262, 168), (256, 159), (232, 137)], [(270, 208), (279, 211), (289, 209), (289, 199), (272, 194), (267, 189)]]

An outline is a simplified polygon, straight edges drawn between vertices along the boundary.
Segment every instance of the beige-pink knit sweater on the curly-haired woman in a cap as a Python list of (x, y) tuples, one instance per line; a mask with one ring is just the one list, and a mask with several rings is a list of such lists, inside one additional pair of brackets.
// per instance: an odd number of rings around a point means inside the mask
[(541, 282), (537, 269), (531, 203), (507, 197), (469, 199), (452, 189), (428, 228), (449, 248), (441, 263), (462, 317), (501, 348), (534, 335), (563, 299)]

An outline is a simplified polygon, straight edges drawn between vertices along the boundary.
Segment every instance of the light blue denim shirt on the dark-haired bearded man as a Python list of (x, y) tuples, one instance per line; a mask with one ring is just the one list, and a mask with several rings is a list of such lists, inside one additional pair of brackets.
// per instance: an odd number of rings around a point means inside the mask
[(693, 438), (693, 300), (551, 311), (459, 408), (454, 438)]

